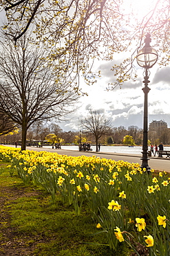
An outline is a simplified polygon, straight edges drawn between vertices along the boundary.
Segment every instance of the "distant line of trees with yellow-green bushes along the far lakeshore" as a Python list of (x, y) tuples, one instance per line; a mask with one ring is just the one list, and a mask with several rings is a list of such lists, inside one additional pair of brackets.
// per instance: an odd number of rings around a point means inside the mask
[[(51, 138), (51, 139), (50, 139)], [(125, 139), (130, 139), (126, 143)], [(132, 141), (131, 141), (132, 138)], [(162, 129), (162, 131), (149, 131), (149, 143), (170, 145), (170, 129)], [(9, 132), (0, 136), (0, 143), (13, 144), (21, 143), (21, 129), (18, 131)], [(96, 145), (96, 138), (92, 131), (63, 131), (59, 125), (55, 123), (36, 122), (28, 129), (27, 145), (34, 145), (34, 142), (40, 141), (41, 145), (48, 142), (50, 144), (61, 143), (61, 145), (78, 145), (79, 143), (89, 142), (91, 145)], [(131, 125), (127, 129), (123, 126), (110, 128), (106, 134), (103, 134), (98, 139), (98, 143), (102, 145), (142, 145), (142, 129)]]

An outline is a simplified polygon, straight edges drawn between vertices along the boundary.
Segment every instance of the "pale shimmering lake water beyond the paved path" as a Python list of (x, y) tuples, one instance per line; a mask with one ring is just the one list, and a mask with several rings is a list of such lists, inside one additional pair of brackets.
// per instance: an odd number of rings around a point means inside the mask
[[(44, 146), (46, 148), (52, 148), (52, 146)], [(96, 146), (91, 147), (94, 152), (96, 152)], [(69, 150), (79, 150), (78, 146), (63, 146), (61, 145), (61, 149), (69, 149)], [(148, 147), (148, 150), (150, 147)], [(170, 150), (170, 147), (164, 147), (164, 150)], [(100, 152), (111, 152), (111, 153), (129, 153), (129, 154), (141, 154), (142, 147), (141, 146), (103, 146), (100, 147)]]

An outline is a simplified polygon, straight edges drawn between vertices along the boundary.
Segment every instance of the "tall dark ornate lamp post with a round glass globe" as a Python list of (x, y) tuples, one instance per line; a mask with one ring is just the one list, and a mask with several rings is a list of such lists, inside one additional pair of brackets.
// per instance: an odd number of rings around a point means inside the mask
[(138, 55), (136, 57), (137, 63), (142, 68), (145, 68), (145, 76), (143, 83), (145, 84), (142, 91), (145, 93), (144, 99), (144, 118), (143, 118), (143, 145), (142, 145), (142, 165), (141, 168), (146, 168), (149, 171), (151, 168), (148, 165), (148, 146), (147, 146), (147, 131), (148, 131), (148, 103), (147, 103), (147, 95), (150, 91), (148, 87), (149, 84), (149, 68), (151, 68), (154, 64), (156, 64), (158, 60), (158, 53), (155, 49), (150, 46), (151, 37), (150, 34), (147, 33), (145, 38), (145, 46), (138, 51)]

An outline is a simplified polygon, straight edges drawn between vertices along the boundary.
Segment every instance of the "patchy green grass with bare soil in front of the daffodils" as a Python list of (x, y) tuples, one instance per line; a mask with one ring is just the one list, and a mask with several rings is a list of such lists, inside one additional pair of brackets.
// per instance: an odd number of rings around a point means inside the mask
[(105, 233), (93, 235), (99, 230), (86, 205), (76, 216), (72, 205), (63, 204), (59, 194), (53, 204), (44, 190), (23, 185), (16, 174), (11, 177), (6, 165), (1, 163), (0, 169), (2, 255), (131, 255), (125, 243), (116, 252), (98, 245), (106, 244)]

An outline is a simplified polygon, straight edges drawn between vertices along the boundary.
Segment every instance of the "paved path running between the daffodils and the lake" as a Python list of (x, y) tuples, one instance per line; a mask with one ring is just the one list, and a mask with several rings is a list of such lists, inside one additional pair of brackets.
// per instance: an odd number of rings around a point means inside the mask
[[(129, 163), (142, 163), (141, 155), (137, 154), (122, 154), (122, 153), (110, 153), (110, 152), (79, 152), (76, 150), (67, 150), (67, 149), (47, 149), (47, 148), (37, 148), (37, 147), (27, 147), (30, 150), (36, 151), (47, 151), (47, 152), (57, 152), (58, 154), (65, 154), (67, 156), (98, 156), (100, 158), (113, 159), (115, 161), (123, 160)], [(154, 170), (170, 172), (170, 158), (158, 158), (150, 157), (149, 166)]]

